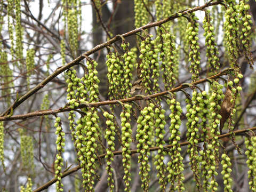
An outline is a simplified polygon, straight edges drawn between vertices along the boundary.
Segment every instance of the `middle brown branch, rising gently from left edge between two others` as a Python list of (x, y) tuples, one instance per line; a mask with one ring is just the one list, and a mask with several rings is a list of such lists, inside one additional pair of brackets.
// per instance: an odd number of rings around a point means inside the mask
[[(228, 69), (225, 69), (223, 71), (221, 71), (220, 73), (216, 74), (216, 75), (213, 75), (211, 77), (208, 77), (208, 78), (204, 78), (204, 79), (200, 79), (194, 83), (191, 83), (191, 85), (197, 85), (197, 84), (200, 84), (200, 83), (204, 83), (207, 81), (207, 79), (215, 79), (215, 78), (218, 78), (222, 75), (227, 75), (228, 73), (230, 73), (231, 71), (233, 71), (232, 68), (228, 68)], [(169, 92), (177, 92), (177, 91), (180, 91), (182, 89), (185, 89), (187, 88), (189, 85), (186, 84), (186, 83), (183, 83), (183, 84), (180, 84), (179, 86), (171, 89), (171, 90), (168, 90), (168, 91), (163, 91), (163, 92), (160, 92), (160, 93), (155, 93), (155, 94), (151, 94), (151, 95), (147, 95), (147, 98), (156, 98), (156, 97), (161, 97), (163, 95), (166, 95), (166, 94), (169, 94)], [(65, 112), (65, 111), (70, 111), (70, 110), (74, 110), (74, 109), (79, 109), (79, 108), (86, 108), (86, 107), (99, 107), (99, 106), (103, 106), (103, 105), (113, 105), (113, 104), (117, 104), (119, 103), (120, 101), (121, 102), (132, 102), (132, 101), (137, 101), (137, 100), (142, 100), (144, 98), (142, 97), (131, 97), (131, 98), (127, 98), (127, 99), (119, 99), (119, 100), (111, 100), (111, 101), (100, 101), (100, 102), (94, 102), (94, 103), (81, 103), (78, 107), (76, 108), (70, 108), (70, 107), (62, 107), (60, 109), (49, 109), (49, 110), (38, 110), (38, 111), (34, 111), (32, 113), (28, 113), (28, 114), (24, 114), (24, 115), (13, 115), (11, 117), (9, 117), (9, 115), (6, 115), (6, 116), (3, 116), (3, 117), (0, 117), (0, 121), (10, 121), (10, 120), (17, 120), (17, 119), (26, 119), (26, 118), (31, 118), (31, 117), (36, 117), (36, 116), (44, 116), (44, 115), (55, 115), (57, 113), (62, 113), (62, 112)]]

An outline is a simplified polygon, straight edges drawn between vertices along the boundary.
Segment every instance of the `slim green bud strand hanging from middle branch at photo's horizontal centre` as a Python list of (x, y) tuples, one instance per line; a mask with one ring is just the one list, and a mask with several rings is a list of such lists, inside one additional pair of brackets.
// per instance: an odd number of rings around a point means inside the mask
[(130, 191), (131, 181), (131, 142), (132, 142), (132, 128), (131, 128), (131, 109), (132, 106), (125, 104), (123, 111), (120, 114), (121, 126), (122, 126), (122, 156), (123, 156), (123, 167), (124, 167), (124, 182), (125, 191)]

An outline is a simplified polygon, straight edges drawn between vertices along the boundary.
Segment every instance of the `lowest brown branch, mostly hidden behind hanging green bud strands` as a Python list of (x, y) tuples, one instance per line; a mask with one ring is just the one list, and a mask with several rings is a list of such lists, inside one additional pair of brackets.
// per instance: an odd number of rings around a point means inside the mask
[[(243, 129), (243, 130), (234, 131), (234, 134), (235, 135), (241, 135), (242, 133), (245, 133), (245, 132), (248, 132), (248, 131), (255, 131), (255, 130), (256, 130), (256, 127), (251, 127), (249, 129)], [(232, 133), (226, 133), (226, 134), (219, 135), (218, 139), (229, 137), (231, 134)], [(212, 138), (210, 138), (210, 139), (212, 139)], [(198, 142), (203, 142), (203, 141), (200, 139)], [(185, 142), (181, 142), (180, 146), (187, 146), (188, 144), (189, 144), (189, 142), (185, 141)], [(165, 147), (166, 148), (171, 148), (173, 146), (172, 145), (167, 145)], [(149, 148), (150, 151), (156, 151), (158, 149), (159, 149), (159, 147), (150, 147)], [(131, 150), (131, 154), (137, 154), (137, 149)], [(122, 155), (122, 150), (114, 151), (114, 155)], [(98, 158), (96, 158), (96, 159), (102, 159), (102, 158), (105, 158), (105, 156), (106, 156), (106, 154), (102, 154), (102, 155), (99, 155)], [(74, 173), (74, 172), (78, 171), (79, 169), (81, 169), (81, 167), (78, 165), (78, 166), (74, 167), (71, 170), (63, 172), (62, 178), (66, 177), (67, 175), (69, 175), (71, 173)], [(34, 190), (34, 192), (39, 192), (39, 191), (42, 191), (44, 189), (47, 189), (48, 187), (53, 185), (53, 183), (55, 183), (56, 181), (57, 181), (57, 179), (52, 179), (51, 181), (48, 181), (47, 183), (45, 183), (41, 187), (39, 187), (36, 190)]]

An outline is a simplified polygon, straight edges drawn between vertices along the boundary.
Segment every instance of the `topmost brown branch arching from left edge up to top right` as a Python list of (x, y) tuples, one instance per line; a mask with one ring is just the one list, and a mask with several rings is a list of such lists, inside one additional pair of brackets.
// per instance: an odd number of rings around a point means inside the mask
[[(214, 2), (214, 3), (206, 3), (205, 5), (202, 5), (202, 6), (196, 6), (193, 9), (186, 9), (186, 10), (180, 11), (179, 13), (187, 14), (187, 13), (191, 13), (191, 12), (194, 12), (194, 11), (203, 10), (206, 7), (213, 6), (213, 5), (218, 5), (221, 2), (222, 2), (222, 0), (219, 0), (219, 1)], [(148, 29), (148, 28), (151, 28), (151, 27), (161, 26), (163, 23), (166, 23), (166, 22), (168, 22), (170, 20), (173, 20), (175, 18), (181, 17), (182, 15), (179, 14), (179, 13), (172, 14), (169, 18), (165, 18), (165, 19), (163, 19), (161, 21), (148, 23), (145, 26), (142, 26), (142, 27), (139, 27), (137, 29), (131, 30), (131, 31), (127, 32), (127, 33), (124, 33), (124, 34), (122, 34), (122, 36), (123, 37), (128, 37), (128, 36), (131, 36), (131, 35), (134, 35), (134, 34), (140, 32), (142, 29)], [(10, 114), (11, 110), (14, 110), (15, 108), (17, 108), (22, 102), (27, 100), (31, 95), (36, 93), (38, 90), (42, 89), (53, 78), (57, 77), (59, 74), (61, 74), (63, 71), (67, 70), (68, 68), (73, 67), (75, 65), (78, 65), (80, 61), (85, 59), (85, 56), (89, 56), (92, 53), (97, 52), (97, 51), (99, 51), (99, 50), (109, 46), (110, 44), (113, 44), (113, 43), (117, 42), (119, 39), (121, 39), (120, 35), (119, 36), (115, 36), (114, 38), (111, 38), (109, 41), (95, 46), (93, 49), (91, 49), (90, 51), (87, 51), (84, 54), (80, 55), (75, 60), (73, 60), (73, 61), (67, 63), (66, 65), (58, 68), (57, 70), (54, 71), (53, 74), (51, 74), (50, 76), (46, 77), (41, 83), (39, 83), (37, 86), (35, 86), (30, 91), (28, 91), (19, 100), (14, 101), (12, 103), (12, 105), (1, 114), (1, 116), (5, 116), (5, 115)]]

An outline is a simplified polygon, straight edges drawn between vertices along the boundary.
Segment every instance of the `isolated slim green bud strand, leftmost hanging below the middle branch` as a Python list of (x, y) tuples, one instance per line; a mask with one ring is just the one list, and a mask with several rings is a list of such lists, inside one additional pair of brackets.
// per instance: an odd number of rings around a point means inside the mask
[(61, 127), (61, 121), (60, 117), (55, 118), (55, 124), (54, 127), (56, 127), (55, 134), (57, 135), (56, 139), (56, 145), (58, 153), (56, 155), (56, 160), (54, 162), (54, 169), (55, 169), (55, 178), (56, 181), (56, 191), (60, 192), (63, 191), (63, 183), (61, 183), (61, 167), (63, 166), (63, 158), (61, 157), (61, 154), (64, 152), (64, 146), (65, 146), (65, 133), (62, 131)]

